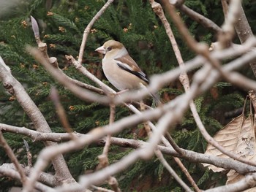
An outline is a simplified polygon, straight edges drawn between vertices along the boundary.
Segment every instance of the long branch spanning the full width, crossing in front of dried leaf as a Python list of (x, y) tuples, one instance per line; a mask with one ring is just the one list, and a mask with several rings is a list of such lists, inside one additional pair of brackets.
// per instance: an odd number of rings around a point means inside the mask
[[(64, 142), (67, 140), (70, 140), (71, 137), (67, 133), (41, 133), (38, 131), (31, 130), (29, 128), (24, 127), (15, 127), (15, 126), (9, 126), (6, 124), (0, 123), (0, 130), (1, 131), (7, 131), (15, 134), (22, 134), (27, 137), (37, 138), (36, 141), (44, 141), (45, 139), (54, 141), (54, 142)], [(78, 134), (76, 133), (78, 137), (86, 137), (85, 134)], [(88, 134), (87, 137), (89, 138), (90, 135)], [(98, 139), (95, 141), (98, 145), (105, 144), (105, 137), (102, 139)], [(122, 139), (117, 137), (111, 137), (111, 143), (113, 145), (118, 145), (120, 147), (132, 147), (132, 148), (138, 148), (142, 147), (143, 145), (146, 145), (146, 142), (135, 140), (135, 139)], [(176, 150), (171, 149), (171, 147), (164, 147), (164, 146), (158, 146), (159, 150), (162, 151), (162, 153), (173, 155), (176, 157), (185, 158), (188, 161), (192, 162), (203, 162), (207, 164), (214, 164), (215, 166), (223, 167), (225, 169), (235, 169), (237, 172), (244, 174), (246, 172), (256, 172), (256, 168), (254, 166), (247, 166), (246, 164), (242, 164), (238, 161), (234, 161), (233, 159), (225, 159), (225, 158), (219, 158), (214, 155), (205, 155), (201, 153), (196, 153), (190, 150), (184, 150), (184, 155), (179, 155)]]

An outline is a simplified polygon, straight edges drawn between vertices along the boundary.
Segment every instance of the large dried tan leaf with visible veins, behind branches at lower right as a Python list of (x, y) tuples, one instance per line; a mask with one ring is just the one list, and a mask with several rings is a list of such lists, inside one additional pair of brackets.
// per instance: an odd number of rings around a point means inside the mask
[[(246, 160), (256, 161), (255, 120), (252, 114), (250, 114), (249, 118), (246, 118), (246, 120), (244, 120), (244, 115), (234, 118), (227, 126), (217, 132), (214, 139), (217, 140), (222, 147), (225, 147), (225, 150), (236, 153), (236, 155), (246, 158)], [(206, 154), (230, 158), (212, 145), (208, 145)], [(209, 164), (203, 164), (203, 166), (208, 166), (213, 172), (222, 172), (225, 170)], [(227, 173), (226, 184), (236, 183), (243, 178), (243, 174), (238, 174), (235, 170), (230, 170), (230, 172)], [(256, 191), (256, 188), (250, 188), (244, 192), (252, 191)]]

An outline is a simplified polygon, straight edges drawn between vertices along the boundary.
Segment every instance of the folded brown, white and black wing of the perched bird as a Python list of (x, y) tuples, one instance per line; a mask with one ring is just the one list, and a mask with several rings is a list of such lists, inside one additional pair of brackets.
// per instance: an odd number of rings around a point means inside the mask
[(136, 75), (141, 80), (148, 83), (148, 78), (147, 78), (146, 74), (141, 71), (138, 64), (136, 64), (136, 62), (129, 55), (125, 55), (121, 58), (115, 58), (115, 60), (117, 61), (117, 65), (121, 69), (124, 69), (125, 71)]

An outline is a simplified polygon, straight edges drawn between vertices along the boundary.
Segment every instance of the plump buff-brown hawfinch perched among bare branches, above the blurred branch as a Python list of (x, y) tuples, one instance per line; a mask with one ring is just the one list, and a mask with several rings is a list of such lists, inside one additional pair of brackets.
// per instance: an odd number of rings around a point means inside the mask
[(95, 51), (105, 55), (102, 59), (103, 72), (119, 91), (148, 85), (146, 74), (141, 71), (120, 42), (109, 40)]

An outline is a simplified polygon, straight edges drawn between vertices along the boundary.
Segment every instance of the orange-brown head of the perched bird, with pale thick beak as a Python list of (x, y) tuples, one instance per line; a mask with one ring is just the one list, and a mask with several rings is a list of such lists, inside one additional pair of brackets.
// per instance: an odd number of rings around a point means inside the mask
[(115, 40), (109, 40), (108, 42), (105, 42), (101, 47), (98, 47), (95, 51), (113, 58), (118, 58), (128, 53), (124, 45), (121, 44), (121, 42), (117, 42)]

